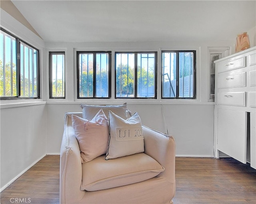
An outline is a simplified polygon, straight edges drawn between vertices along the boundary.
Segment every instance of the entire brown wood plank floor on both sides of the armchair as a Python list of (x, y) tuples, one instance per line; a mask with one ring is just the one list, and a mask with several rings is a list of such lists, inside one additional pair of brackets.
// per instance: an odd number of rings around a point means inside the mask
[[(40, 160), (1, 192), (1, 204), (59, 203), (59, 159), (48, 155)], [(256, 170), (232, 158), (176, 158), (173, 201), (174, 204), (256, 204)]]

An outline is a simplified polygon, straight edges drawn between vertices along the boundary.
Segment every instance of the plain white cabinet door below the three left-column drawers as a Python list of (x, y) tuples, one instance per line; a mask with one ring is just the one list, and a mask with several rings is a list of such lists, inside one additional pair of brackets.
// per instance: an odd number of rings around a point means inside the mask
[(245, 111), (218, 109), (218, 150), (246, 164)]

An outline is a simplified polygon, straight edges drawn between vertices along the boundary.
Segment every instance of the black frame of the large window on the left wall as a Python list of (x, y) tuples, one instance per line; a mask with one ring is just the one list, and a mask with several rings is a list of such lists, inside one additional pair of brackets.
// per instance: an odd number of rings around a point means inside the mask
[[(16, 89), (17, 89), (17, 96), (0, 96), (0, 100), (16, 100), (16, 99), (39, 99), (40, 98), (40, 52), (37, 48), (35, 48), (34, 46), (30, 45), (29, 43), (25, 42), (24, 40), (21, 40), (20, 38), (18, 38), (17, 36), (15, 36), (14, 34), (8, 32), (7, 30), (5, 30), (4, 28), (0, 27), (0, 30), (2, 32), (5, 32), (6, 34), (12, 36), (13, 38), (16, 39)], [(37, 79), (37, 84), (36, 84), (36, 88), (37, 88), (37, 96), (36, 97), (22, 97), (21, 96), (21, 85), (20, 85), (20, 63), (21, 63), (21, 59), (20, 59), (20, 42), (30, 46), (31, 48), (33, 48), (34, 50), (37, 50), (38, 55), (37, 55), (37, 70), (36, 70), (36, 79)]]

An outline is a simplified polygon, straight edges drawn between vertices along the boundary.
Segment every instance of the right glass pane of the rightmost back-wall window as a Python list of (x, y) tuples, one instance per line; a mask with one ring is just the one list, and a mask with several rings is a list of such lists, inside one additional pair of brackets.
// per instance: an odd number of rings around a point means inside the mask
[(191, 98), (194, 90), (194, 53), (179, 52), (179, 97)]

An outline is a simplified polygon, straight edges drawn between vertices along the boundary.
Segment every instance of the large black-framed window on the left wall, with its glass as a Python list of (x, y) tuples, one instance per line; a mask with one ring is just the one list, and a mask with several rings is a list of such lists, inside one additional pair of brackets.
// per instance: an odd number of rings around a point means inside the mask
[(39, 98), (39, 51), (1, 28), (1, 99)]

